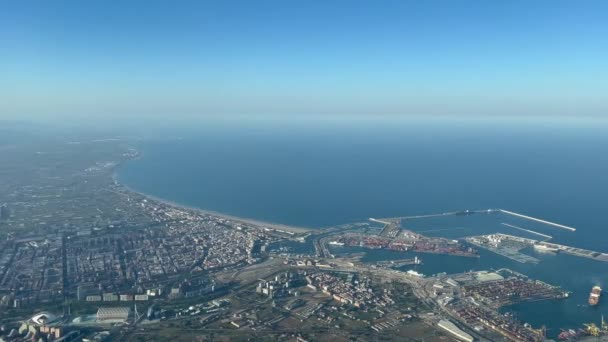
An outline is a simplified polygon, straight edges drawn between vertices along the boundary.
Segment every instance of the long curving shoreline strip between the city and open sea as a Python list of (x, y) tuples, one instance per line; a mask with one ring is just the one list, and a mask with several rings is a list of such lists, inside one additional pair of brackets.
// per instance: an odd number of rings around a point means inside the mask
[[(117, 167), (120, 167), (121, 165), (118, 164), (116, 165)], [(262, 221), (262, 220), (256, 220), (256, 219), (250, 219), (250, 218), (246, 218), (246, 217), (238, 217), (238, 216), (233, 216), (233, 215), (228, 215), (228, 214), (223, 214), (223, 213), (219, 213), (216, 211), (212, 211), (212, 210), (207, 210), (207, 209), (202, 209), (202, 208), (198, 208), (198, 207), (193, 207), (187, 204), (182, 204), (182, 203), (177, 203), (171, 200), (167, 200), (164, 198), (160, 198), (154, 195), (150, 195), (150, 194), (146, 194), (144, 192), (135, 190), (131, 187), (129, 187), (128, 185), (122, 183), (119, 180), (118, 177), (118, 172), (116, 171), (116, 168), (114, 168), (112, 170), (112, 180), (114, 181), (115, 184), (119, 185), (120, 187), (124, 188), (125, 190), (127, 190), (128, 192), (137, 194), (139, 196), (142, 196), (144, 198), (168, 205), (168, 206), (172, 206), (175, 208), (181, 208), (181, 209), (186, 209), (186, 210), (192, 210), (192, 211), (196, 211), (200, 214), (204, 214), (204, 215), (211, 215), (211, 216), (215, 216), (215, 217), (220, 217), (226, 220), (230, 220), (230, 221), (234, 221), (234, 222), (241, 222), (244, 224), (251, 224), (251, 225), (256, 225), (256, 226), (262, 226), (262, 227), (267, 227), (270, 229), (274, 229), (274, 230), (283, 230), (286, 232), (290, 232), (290, 233), (295, 233), (295, 234), (304, 234), (304, 233), (310, 233), (310, 232), (314, 232), (314, 231), (320, 231), (321, 229), (314, 229), (314, 228), (307, 228), (307, 227), (297, 227), (297, 226), (289, 226), (289, 225), (285, 225), (285, 224), (281, 224), (281, 223), (273, 223), (273, 222), (266, 222), (266, 221)]]

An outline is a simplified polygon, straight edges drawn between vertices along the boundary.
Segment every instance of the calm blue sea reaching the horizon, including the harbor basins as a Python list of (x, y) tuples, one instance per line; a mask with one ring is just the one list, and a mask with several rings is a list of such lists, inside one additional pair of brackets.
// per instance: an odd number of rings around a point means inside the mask
[[(193, 124), (138, 142), (142, 157), (118, 170), (127, 186), (220, 213), (323, 228), (370, 217), (502, 208), (577, 228), (576, 232), (485, 214), (408, 220), (408, 229), (460, 238), (504, 232), (509, 223), (554, 242), (608, 252), (608, 123), (600, 119), (386, 119)], [(485, 215), (485, 216), (484, 216)], [(366, 260), (409, 253), (367, 252)], [(565, 300), (504, 308), (549, 336), (599, 324), (608, 294), (587, 305), (591, 287), (608, 289), (608, 263), (525, 251), (521, 264), (418, 255), (427, 275), (511, 268), (559, 285)]]

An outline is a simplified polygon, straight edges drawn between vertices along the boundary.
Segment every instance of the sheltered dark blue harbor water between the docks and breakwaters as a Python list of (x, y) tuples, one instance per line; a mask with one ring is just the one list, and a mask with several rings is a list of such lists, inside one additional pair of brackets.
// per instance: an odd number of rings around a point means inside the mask
[[(498, 237), (502, 240), (501, 243), (515, 247), (515, 253), (509, 255), (511, 257), (500, 255), (492, 250), (493, 248), (482, 248), (476, 245), (473, 246), (479, 249), (480, 255), (477, 260), (461, 258), (455, 260), (446, 256), (426, 255), (424, 263), (416, 270), (429, 276), (442, 272), (447, 272), (447, 274), (464, 272), (463, 277), (466, 277), (471, 274), (469, 272), (471, 270), (508, 267), (548, 284), (559, 284), (561, 288), (569, 292), (568, 297), (558, 301), (537, 300), (506, 304), (500, 308), (500, 312), (503, 315), (513, 313), (521, 322), (530, 323), (536, 328), (545, 325), (547, 327), (546, 336), (550, 339), (557, 340), (563, 330), (577, 332), (576, 339), (591, 336), (585, 324), (591, 326), (589, 322), (595, 322), (595, 326), (599, 327), (601, 314), (605, 312), (605, 307), (608, 305), (608, 302), (602, 300), (604, 298), (600, 299), (596, 306), (588, 304), (592, 287), (598, 284), (605, 285), (605, 255), (594, 248), (569, 246), (569, 242), (575, 246), (596, 248), (601, 247), (601, 244), (594, 244), (582, 239), (579, 231), (573, 232), (567, 229), (551, 231), (553, 226), (516, 216), (512, 217), (513, 219), (510, 219), (504, 213), (488, 213), (487, 211), (474, 213), (463, 211), (459, 215), (456, 215), (456, 212), (450, 212), (445, 215), (404, 217), (407, 219), (403, 223), (415, 232), (462, 241), (470, 237), (498, 233), (500, 234)], [(527, 221), (529, 223), (526, 223)], [(585, 242), (589, 243), (585, 245)], [(374, 254), (382, 254), (387, 259), (393, 255), (389, 251), (374, 251)], [(522, 255), (523, 257), (521, 257)], [(408, 256), (413, 257), (414, 254), (409, 253)], [(380, 256), (375, 258), (380, 258)], [(400, 259), (397, 255), (390, 258)], [(371, 256), (367, 259), (371, 259)], [(600, 334), (599, 340), (601, 338)]]

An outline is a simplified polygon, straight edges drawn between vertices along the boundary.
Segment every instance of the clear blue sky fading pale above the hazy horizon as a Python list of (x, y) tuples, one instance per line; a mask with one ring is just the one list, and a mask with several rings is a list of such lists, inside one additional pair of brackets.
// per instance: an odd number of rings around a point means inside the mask
[(3, 1), (0, 117), (608, 116), (606, 1)]

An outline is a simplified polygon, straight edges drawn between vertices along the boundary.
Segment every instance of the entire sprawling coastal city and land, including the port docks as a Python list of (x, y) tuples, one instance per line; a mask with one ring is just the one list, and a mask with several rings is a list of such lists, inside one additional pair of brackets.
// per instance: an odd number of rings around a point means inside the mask
[[(0, 341), (543, 341), (543, 327), (500, 309), (569, 295), (509, 269), (414, 269), (427, 253), (478, 258), (476, 248), (534, 263), (519, 253), (534, 240), (427, 237), (396, 219), (308, 230), (184, 208), (117, 181), (139, 157), (121, 138), (1, 153)], [(332, 246), (418, 256), (363, 262)]]

